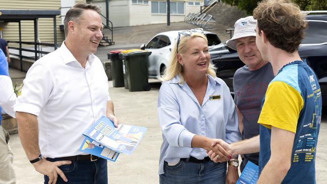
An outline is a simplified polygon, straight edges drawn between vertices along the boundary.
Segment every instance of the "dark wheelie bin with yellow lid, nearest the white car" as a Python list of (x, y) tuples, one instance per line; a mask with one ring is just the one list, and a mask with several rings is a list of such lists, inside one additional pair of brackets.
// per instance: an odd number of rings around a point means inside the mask
[(151, 52), (140, 49), (119, 53), (123, 61), (125, 88), (129, 91), (150, 90), (148, 83), (148, 56)]

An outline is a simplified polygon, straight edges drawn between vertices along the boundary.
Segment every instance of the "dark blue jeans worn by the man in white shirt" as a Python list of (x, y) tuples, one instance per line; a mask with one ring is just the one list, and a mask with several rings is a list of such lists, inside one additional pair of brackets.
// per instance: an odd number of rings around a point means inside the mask
[[(47, 160), (54, 162), (57, 158), (47, 158)], [(68, 182), (62, 180), (60, 175), (57, 178), (57, 184), (107, 184), (108, 171), (107, 160), (98, 158), (97, 161), (77, 160), (71, 161), (69, 165), (61, 165), (59, 169), (63, 171), (68, 179)], [(44, 175), (44, 183), (48, 184), (49, 177)]]

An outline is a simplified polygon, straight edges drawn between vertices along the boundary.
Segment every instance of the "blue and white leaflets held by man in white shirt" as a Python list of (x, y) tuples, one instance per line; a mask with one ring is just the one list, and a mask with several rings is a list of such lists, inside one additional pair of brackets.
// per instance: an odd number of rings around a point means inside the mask
[[(83, 141), (79, 150), (116, 161), (119, 153), (130, 155), (134, 152), (146, 129), (145, 127), (122, 124), (116, 128), (109, 118), (103, 116), (83, 133), (87, 138)], [(89, 149), (89, 142), (98, 143), (100, 146), (95, 144), (93, 149)]]

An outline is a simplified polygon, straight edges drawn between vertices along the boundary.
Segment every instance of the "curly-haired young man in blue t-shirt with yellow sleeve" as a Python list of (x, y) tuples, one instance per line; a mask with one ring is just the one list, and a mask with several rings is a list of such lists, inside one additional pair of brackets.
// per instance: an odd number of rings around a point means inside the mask
[[(254, 18), (257, 46), (276, 75), (263, 100), (260, 135), (231, 145), (215, 143), (230, 154), (260, 150), (258, 183), (315, 183), (322, 101), (316, 75), (298, 54), (307, 22), (289, 1), (263, 1)], [(208, 154), (217, 161), (213, 151)]]

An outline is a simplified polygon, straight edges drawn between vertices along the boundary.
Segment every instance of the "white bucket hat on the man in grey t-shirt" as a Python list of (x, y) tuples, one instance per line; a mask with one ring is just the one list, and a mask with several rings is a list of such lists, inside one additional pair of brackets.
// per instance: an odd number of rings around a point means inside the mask
[(234, 35), (230, 40), (226, 42), (226, 46), (233, 50), (236, 50), (236, 40), (238, 38), (257, 36), (255, 31), (256, 25), (257, 20), (255, 20), (253, 16), (238, 19), (234, 25)]

